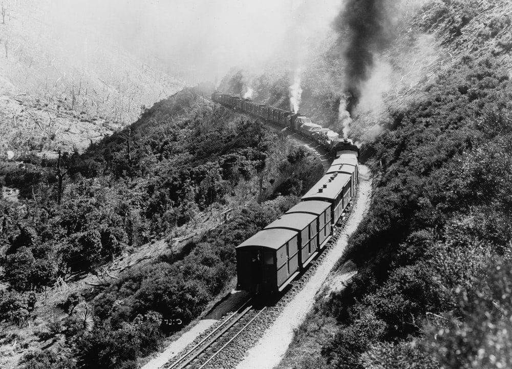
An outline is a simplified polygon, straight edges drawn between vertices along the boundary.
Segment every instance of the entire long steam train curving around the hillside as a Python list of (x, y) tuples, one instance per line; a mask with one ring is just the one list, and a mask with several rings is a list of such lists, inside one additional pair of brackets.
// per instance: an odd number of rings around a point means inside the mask
[(354, 197), (359, 149), (351, 140), (339, 139), (301, 114), (219, 92), (211, 99), (310, 137), (333, 157), (326, 174), (300, 203), (235, 248), (237, 289), (265, 295), (281, 292), (325, 249), (334, 225)]

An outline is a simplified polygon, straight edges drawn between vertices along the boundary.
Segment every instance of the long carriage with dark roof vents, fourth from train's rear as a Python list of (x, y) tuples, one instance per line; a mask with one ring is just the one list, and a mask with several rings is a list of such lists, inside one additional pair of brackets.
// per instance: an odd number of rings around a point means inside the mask
[(303, 201), (328, 201), (332, 224), (338, 222), (351, 199), (352, 176), (346, 173), (326, 174), (302, 197)]

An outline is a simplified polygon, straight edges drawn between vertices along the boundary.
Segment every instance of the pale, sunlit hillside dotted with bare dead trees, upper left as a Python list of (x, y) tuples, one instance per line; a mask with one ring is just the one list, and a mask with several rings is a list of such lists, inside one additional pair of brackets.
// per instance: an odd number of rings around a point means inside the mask
[(83, 151), (183, 87), (156, 59), (59, 12), (58, 3), (5, 0), (2, 7), (3, 155)]

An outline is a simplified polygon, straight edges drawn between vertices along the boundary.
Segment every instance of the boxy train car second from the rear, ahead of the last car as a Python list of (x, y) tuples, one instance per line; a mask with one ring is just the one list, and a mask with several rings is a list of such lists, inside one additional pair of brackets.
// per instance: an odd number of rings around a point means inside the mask
[(265, 229), (283, 229), (297, 233), (298, 267), (302, 271), (318, 255), (318, 222), (313, 214), (284, 214)]

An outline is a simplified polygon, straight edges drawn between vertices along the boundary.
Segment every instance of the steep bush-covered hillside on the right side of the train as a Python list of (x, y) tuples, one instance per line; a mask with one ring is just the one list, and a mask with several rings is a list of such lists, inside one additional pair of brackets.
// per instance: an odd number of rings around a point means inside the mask
[(318, 301), (282, 367), (512, 365), (511, 10), (431, 1), (412, 19), (408, 37), (450, 58), (364, 145), (373, 200), (344, 259), (358, 274)]

